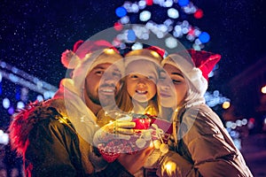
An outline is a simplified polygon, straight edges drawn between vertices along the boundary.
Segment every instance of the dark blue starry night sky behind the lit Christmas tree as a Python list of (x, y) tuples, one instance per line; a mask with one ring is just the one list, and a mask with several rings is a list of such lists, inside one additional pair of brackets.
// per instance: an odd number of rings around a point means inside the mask
[[(60, 63), (61, 53), (72, 50), (74, 42), (113, 27), (119, 19), (115, 9), (123, 2), (4, 0), (0, 3), (0, 60), (58, 87), (66, 73)], [(187, 19), (211, 36), (204, 50), (222, 55), (219, 72), (210, 80), (210, 89), (222, 89), (227, 96), (231, 78), (266, 56), (263, 18), (266, 3), (263, 0), (192, 2), (203, 10), (204, 17)], [(160, 14), (160, 9), (154, 14)]]

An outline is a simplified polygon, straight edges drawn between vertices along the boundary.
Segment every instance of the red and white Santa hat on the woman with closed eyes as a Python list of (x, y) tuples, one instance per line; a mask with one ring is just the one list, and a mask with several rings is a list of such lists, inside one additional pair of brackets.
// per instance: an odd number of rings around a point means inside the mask
[(203, 96), (207, 91), (208, 73), (220, 59), (221, 55), (204, 50), (186, 50), (170, 54), (161, 64), (176, 66)]

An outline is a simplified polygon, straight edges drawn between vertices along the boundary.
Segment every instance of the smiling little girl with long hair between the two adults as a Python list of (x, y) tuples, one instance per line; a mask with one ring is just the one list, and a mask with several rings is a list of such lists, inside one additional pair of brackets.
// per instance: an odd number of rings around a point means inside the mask
[(157, 51), (149, 49), (132, 50), (125, 55), (125, 77), (117, 106), (108, 106), (98, 113), (100, 127), (113, 121), (118, 113), (158, 115), (156, 83), (161, 60)]

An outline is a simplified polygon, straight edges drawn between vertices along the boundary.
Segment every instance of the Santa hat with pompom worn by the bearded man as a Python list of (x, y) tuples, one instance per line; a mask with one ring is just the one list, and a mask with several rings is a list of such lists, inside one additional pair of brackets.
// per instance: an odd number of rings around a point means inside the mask
[[(70, 69), (72, 81), (76, 89), (82, 89), (88, 73), (99, 64), (120, 65), (123, 72), (122, 56), (110, 42), (105, 40), (83, 42), (79, 40), (74, 43), (73, 50), (62, 53), (62, 64)], [(76, 92), (80, 92), (76, 90)]]

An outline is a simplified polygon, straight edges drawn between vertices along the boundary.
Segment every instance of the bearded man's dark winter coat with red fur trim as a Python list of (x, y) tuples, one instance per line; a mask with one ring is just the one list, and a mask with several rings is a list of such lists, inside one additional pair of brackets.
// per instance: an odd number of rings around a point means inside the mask
[(29, 104), (12, 120), (12, 147), (22, 155), (26, 176), (132, 176), (118, 161), (107, 164), (99, 156), (90, 143), (94, 118), (73, 92), (64, 91), (66, 99)]

